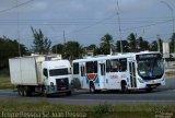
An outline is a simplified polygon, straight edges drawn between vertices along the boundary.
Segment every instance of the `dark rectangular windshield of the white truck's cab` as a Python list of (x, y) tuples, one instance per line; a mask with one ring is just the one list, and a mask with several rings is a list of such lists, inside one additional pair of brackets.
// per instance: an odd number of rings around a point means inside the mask
[(49, 70), (49, 75), (50, 75), (50, 76), (66, 75), (66, 74), (69, 74), (68, 68), (63, 68), (63, 69), (51, 69), (51, 70)]

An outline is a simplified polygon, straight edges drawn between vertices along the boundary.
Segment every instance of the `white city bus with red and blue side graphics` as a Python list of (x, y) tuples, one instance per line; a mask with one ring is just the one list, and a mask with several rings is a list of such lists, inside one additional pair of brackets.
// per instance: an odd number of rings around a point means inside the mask
[(147, 90), (151, 92), (165, 85), (165, 72), (160, 52), (131, 52), (89, 57), (72, 61), (73, 85), (89, 88), (91, 93), (101, 90)]

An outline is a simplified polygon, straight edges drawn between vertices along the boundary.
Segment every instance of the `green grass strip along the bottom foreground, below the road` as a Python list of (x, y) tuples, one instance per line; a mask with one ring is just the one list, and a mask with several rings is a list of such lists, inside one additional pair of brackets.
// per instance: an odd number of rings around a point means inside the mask
[[(40, 103), (0, 103), (1, 116), (21, 114), (40, 115), (42, 117), (68, 117), (68, 118), (174, 118), (173, 105), (54, 105), (47, 102)], [(5, 118), (5, 117), (4, 117)]]

